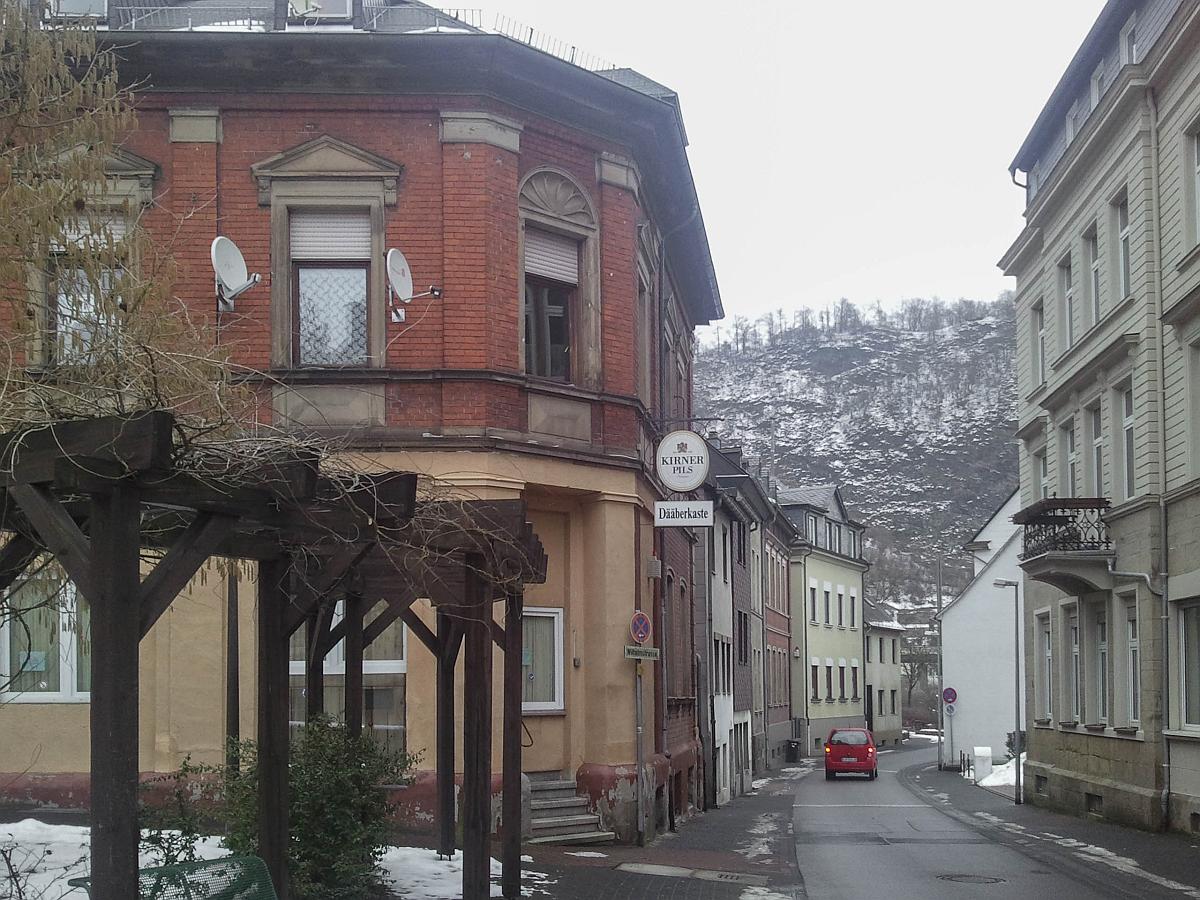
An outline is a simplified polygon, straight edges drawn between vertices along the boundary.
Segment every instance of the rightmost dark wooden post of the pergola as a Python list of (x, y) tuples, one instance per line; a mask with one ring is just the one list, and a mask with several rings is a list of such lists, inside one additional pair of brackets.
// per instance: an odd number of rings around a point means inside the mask
[(520, 587), (504, 598), (504, 840), (500, 845), (502, 890), (509, 900), (521, 896), (521, 629)]

